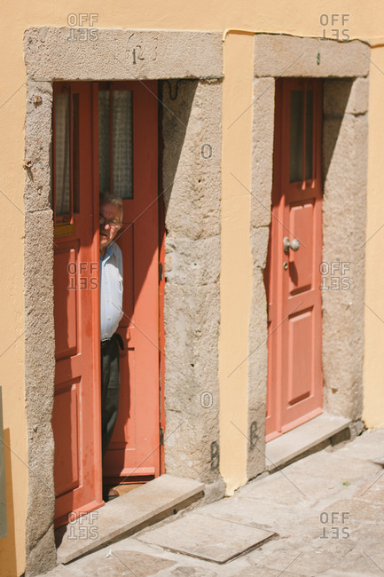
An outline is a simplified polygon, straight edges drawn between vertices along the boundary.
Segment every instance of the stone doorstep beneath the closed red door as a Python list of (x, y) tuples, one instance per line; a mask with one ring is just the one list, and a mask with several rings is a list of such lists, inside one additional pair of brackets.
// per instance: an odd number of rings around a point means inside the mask
[(299, 425), (292, 431), (280, 435), (265, 445), (266, 469), (276, 470), (289, 462), (302, 458), (311, 449), (325, 447), (327, 441), (337, 433), (349, 428), (351, 421), (341, 416), (322, 413)]

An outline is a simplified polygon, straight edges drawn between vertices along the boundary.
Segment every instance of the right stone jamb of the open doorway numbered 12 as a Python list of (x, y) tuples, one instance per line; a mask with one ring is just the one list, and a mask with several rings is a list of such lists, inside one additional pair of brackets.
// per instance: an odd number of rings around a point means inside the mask
[(162, 83), (165, 466), (215, 484), (219, 473), (220, 81)]

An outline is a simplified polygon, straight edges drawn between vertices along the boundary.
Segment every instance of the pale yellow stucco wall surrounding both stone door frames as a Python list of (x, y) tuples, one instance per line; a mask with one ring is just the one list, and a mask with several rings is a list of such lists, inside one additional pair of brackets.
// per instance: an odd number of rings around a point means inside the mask
[[(347, 5), (347, 7), (346, 7)], [(3, 54), (0, 84), (0, 209), (6, 217), (2, 226), (3, 271), (0, 334), (0, 371), (4, 394), (4, 440), (7, 467), (7, 505), (9, 536), (0, 540), (2, 574), (20, 574), (24, 570), (25, 518), (27, 510), (27, 431), (24, 399), (24, 296), (23, 296), (23, 191), (24, 122), (26, 110), (26, 74), (23, 60), (23, 33), (32, 26), (67, 26), (68, 14), (98, 14), (99, 28), (163, 28), (224, 30), (245, 28), (261, 32), (285, 32), (302, 36), (335, 37), (333, 29), (341, 24), (320, 23), (322, 14), (349, 14), (343, 28), (350, 37), (377, 38), (382, 35), (384, 4), (317, 0), (301, 2), (281, 0), (195, 0), (181, 4), (176, 0), (127, 2), (64, 2), (43, 0), (7, 5), (2, 14), (0, 47)], [(323, 21), (325, 19), (323, 18)], [(250, 198), (231, 177), (250, 184), (250, 143), (252, 109), (231, 130), (227, 124), (247, 107), (252, 99), (252, 36), (230, 33), (224, 43), (223, 83), (223, 261), (221, 277), (222, 325), (220, 336), (221, 387), (221, 466), (228, 492), (246, 480), (247, 439), (228, 424), (232, 421), (247, 431), (247, 362), (231, 377), (228, 374), (247, 358), (248, 317), (251, 298), (251, 257), (249, 248)], [(374, 41), (374, 42), (377, 42)], [(384, 128), (384, 49), (372, 51), (370, 84), (370, 139), (368, 176), (368, 236), (384, 223), (382, 189), (382, 135)], [(374, 118), (374, 122), (372, 122)], [(9, 197), (10, 200), (7, 199)], [(15, 208), (13, 204), (18, 208)], [(20, 212), (21, 210), (21, 212)], [(381, 244), (384, 228), (367, 243), (366, 302), (384, 320), (384, 286)], [(235, 273), (233, 270), (236, 263)], [(236, 311), (235, 307), (236, 306)], [(367, 309), (365, 318), (364, 418), (371, 426), (384, 424), (383, 342), (384, 323)]]

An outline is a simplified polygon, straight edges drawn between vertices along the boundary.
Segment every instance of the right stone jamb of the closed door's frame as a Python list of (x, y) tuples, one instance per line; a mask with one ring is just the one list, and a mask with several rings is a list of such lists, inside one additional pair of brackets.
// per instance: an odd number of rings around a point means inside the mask
[(356, 421), (363, 408), (368, 78), (324, 82), (324, 407)]

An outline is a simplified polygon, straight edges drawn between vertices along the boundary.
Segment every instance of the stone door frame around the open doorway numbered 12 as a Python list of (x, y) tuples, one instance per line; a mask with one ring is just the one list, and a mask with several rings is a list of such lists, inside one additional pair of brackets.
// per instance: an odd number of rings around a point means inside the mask
[[(183, 258), (200, 262), (207, 249), (210, 257), (220, 262), (220, 180), (221, 180), (221, 92), (223, 76), (222, 35), (219, 32), (165, 30), (122, 30), (81, 28), (29, 28), (25, 33), (27, 67), (26, 115), (26, 407), (28, 432), (28, 504), (27, 504), (27, 573), (42, 573), (56, 563), (53, 533), (55, 493), (53, 480), (54, 443), (51, 431), (53, 386), (55, 371), (55, 338), (53, 322), (53, 223), (51, 211), (51, 109), (52, 83), (55, 81), (119, 81), (162, 80), (162, 193), (165, 205), (168, 253), (168, 286), (165, 289), (164, 327), (166, 359), (170, 356), (165, 375), (168, 392), (168, 429), (172, 431), (174, 410), (172, 393), (177, 390), (180, 375), (192, 381), (195, 377), (180, 369), (183, 357), (190, 352), (189, 344), (180, 344), (172, 330), (173, 315), (184, 307), (184, 297), (196, 298), (200, 278), (192, 283), (190, 294), (179, 278), (178, 264)], [(176, 79), (176, 80), (174, 80)], [(210, 119), (210, 122), (208, 122)], [(199, 130), (200, 146), (193, 147)], [(201, 146), (215, 150), (212, 162), (207, 162)], [(209, 157), (210, 158), (210, 157)], [(180, 171), (180, 168), (183, 170)], [(207, 202), (198, 199), (195, 183), (208, 181)], [(190, 211), (188, 221), (178, 215), (188, 208), (185, 187), (192, 191), (192, 201), (200, 209), (215, 214), (214, 222), (205, 230), (193, 231), (196, 211)], [(196, 198), (194, 198), (196, 197)], [(200, 219), (201, 220), (201, 219)], [(206, 246), (204, 246), (204, 244)], [(209, 245), (209, 246), (207, 246)], [(174, 255), (173, 264), (169, 257)], [(208, 257), (206, 258), (208, 260)], [(182, 266), (183, 268), (183, 266)], [(196, 274), (195, 274), (196, 276)], [(194, 286), (193, 286), (194, 285)], [(212, 279), (211, 294), (215, 296), (215, 320), (211, 335), (216, 348), (208, 354), (208, 364), (215, 368), (218, 357), (218, 320), (220, 299), (218, 275)], [(192, 292), (191, 292), (192, 291)], [(186, 315), (187, 331), (192, 330), (192, 311)], [(208, 331), (209, 332), (209, 331)], [(174, 354), (174, 352), (177, 354)], [(179, 354), (178, 354), (179, 353)], [(174, 359), (172, 359), (174, 356)], [(193, 366), (193, 363), (192, 363)], [(173, 371), (172, 367), (177, 370)], [(216, 375), (213, 388), (218, 391)], [(184, 387), (185, 388), (185, 387)], [(177, 410), (188, 399), (178, 397)], [(185, 407), (187, 408), (187, 407)], [(211, 411), (204, 426), (218, 439), (218, 412)], [(168, 440), (166, 466), (171, 472), (178, 462), (177, 452), (189, 438), (189, 428), (180, 428), (180, 446)], [(176, 436), (175, 436), (176, 437)], [(167, 454), (168, 447), (168, 454)], [(209, 444), (208, 444), (209, 447)], [(177, 465), (178, 466), (178, 465)], [(217, 478), (218, 470), (186, 476)], [(207, 468), (206, 468), (207, 469)]]

